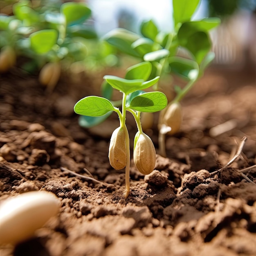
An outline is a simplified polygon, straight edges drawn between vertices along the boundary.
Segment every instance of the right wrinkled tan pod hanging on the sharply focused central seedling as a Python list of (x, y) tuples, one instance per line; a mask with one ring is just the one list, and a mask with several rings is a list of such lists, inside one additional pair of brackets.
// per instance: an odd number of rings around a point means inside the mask
[(149, 174), (155, 168), (155, 147), (148, 135), (137, 132), (134, 139), (133, 159), (142, 174)]

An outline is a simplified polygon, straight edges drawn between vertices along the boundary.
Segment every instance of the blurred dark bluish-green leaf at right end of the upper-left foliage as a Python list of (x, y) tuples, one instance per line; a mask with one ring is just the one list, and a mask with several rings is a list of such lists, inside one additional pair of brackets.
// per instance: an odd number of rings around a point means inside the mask
[(85, 25), (74, 25), (67, 28), (67, 35), (70, 37), (83, 37), (86, 39), (97, 38), (97, 34), (91, 27), (86, 27)]

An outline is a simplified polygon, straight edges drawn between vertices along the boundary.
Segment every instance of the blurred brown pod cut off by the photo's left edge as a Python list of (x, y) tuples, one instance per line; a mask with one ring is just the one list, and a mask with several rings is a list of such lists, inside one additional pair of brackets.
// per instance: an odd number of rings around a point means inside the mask
[(3, 47), (0, 52), (0, 73), (7, 72), (16, 63), (16, 54), (12, 47)]

